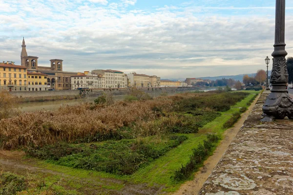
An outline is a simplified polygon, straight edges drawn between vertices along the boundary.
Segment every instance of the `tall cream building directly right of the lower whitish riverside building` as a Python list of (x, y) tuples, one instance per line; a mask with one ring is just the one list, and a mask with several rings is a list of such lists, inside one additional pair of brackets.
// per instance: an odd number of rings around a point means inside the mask
[(124, 72), (118, 70), (93, 70), (92, 73), (105, 77), (105, 88), (125, 88), (127, 85)]

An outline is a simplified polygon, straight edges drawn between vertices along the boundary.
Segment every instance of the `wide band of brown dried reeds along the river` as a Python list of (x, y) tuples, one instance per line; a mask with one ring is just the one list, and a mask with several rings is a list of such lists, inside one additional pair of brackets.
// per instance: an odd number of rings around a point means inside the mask
[(246, 96), (237, 94), (186, 93), (155, 100), (120, 101), (113, 105), (85, 103), (61, 106), (55, 111), (22, 113), (0, 120), (0, 147), (17, 149), (60, 141), (81, 143), (160, 136), (166, 132), (195, 133), (198, 127), (185, 112), (197, 116), (201, 113), (192, 113), (197, 108), (208, 107), (214, 112), (230, 109), (230, 105)]

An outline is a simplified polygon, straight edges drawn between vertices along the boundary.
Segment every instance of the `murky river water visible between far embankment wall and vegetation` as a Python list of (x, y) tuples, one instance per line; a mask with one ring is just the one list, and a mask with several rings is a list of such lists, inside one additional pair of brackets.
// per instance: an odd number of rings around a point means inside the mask
[[(207, 91), (213, 91), (215, 89), (207, 89), (203, 90), (205, 92)], [(193, 92), (193, 91), (175, 91), (175, 92), (169, 92), (168, 96), (173, 96), (175, 94), (180, 93), (186, 93), (186, 92)], [(160, 93), (149, 93), (152, 98), (156, 98), (160, 96)], [(113, 96), (114, 100), (123, 100), (124, 96)], [(57, 100), (57, 101), (43, 101), (43, 102), (27, 102), (27, 103), (21, 103), (19, 105), (19, 109), (22, 112), (32, 112), (32, 111), (38, 111), (38, 110), (55, 110), (59, 108), (61, 105), (76, 105), (81, 104), (84, 102), (94, 102), (95, 98), (81, 98), (81, 99), (72, 99), (72, 100)]]

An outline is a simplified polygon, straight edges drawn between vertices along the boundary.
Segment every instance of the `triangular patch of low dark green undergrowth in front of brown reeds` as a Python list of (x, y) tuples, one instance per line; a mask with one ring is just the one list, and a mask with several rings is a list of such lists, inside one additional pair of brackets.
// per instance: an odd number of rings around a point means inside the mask
[(183, 135), (170, 135), (162, 138), (123, 139), (90, 145), (59, 143), (32, 148), (27, 154), (68, 167), (131, 175), (186, 139), (187, 137)]

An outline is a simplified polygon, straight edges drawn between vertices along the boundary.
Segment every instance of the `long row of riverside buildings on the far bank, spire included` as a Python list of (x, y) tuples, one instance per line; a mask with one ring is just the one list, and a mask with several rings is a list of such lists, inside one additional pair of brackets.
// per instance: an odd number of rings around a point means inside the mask
[(21, 65), (0, 63), (0, 90), (46, 91), (69, 89), (100, 89), (126, 87), (169, 87), (194, 85), (202, 79), (187, 78), (186, 82), (161, 79), (157, 76), (125, 74), (117, 70), (92, 70), (84, 73), (63, 71), (62, 59), (50, 59), (50, 66), (39, 66), (37, 56), (28, 56), (24, 38), (21, 45)]

